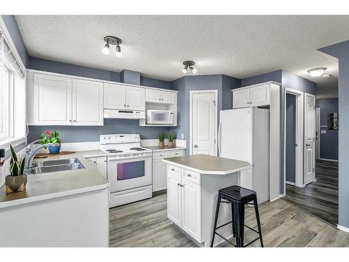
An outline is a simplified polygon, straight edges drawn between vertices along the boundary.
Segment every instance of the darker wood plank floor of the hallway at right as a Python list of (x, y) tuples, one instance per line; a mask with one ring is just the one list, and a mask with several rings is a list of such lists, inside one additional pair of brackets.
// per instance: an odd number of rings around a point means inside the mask
[(286, 185), (285, 200), (329, 224), (338, 224), (338, 163), (316, 161), (316, 182), (299, 188)]

